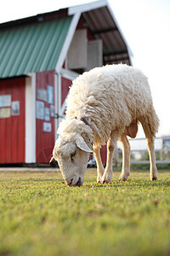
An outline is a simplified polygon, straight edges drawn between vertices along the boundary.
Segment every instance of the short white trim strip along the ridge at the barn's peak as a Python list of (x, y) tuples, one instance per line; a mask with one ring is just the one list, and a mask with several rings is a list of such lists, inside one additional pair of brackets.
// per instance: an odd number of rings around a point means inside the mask
[(95, 1), (92, 3), (84, 3), (84, 4), (75, 5), (75, 6), (68, 8), (68, 15), (75, 15), (77, 12), (78, 13), (79, 12), (80, 13), (87, 12), (89, 10), (97, 9), (97, 8), (104, 7), (107, 5), (108, 5), (107, 0), (100, 0), (100, 1)]

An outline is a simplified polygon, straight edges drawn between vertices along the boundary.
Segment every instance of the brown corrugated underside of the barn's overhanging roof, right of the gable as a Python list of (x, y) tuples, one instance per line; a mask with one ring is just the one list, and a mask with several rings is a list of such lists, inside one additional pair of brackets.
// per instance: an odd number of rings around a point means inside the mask
[(91, 32), (94, 33), (94, 37), (103, 41), (104, 63), (107, 63), (108, 55), (111, 55), (110, 59), (114, 63), (115, 58), (112, 56), (116, 54), (119, 54), (119, 61), (125, 62), (125, 56), (122, 56), (121, 60), (120, 53), (127, 53), (127, 62), (130, 64), (127, 44), (122, 38), (122, 33), (107, 6), (90, 10), (83, 15), (85, 20), (87, 20), (88, 26), (90, 26)]

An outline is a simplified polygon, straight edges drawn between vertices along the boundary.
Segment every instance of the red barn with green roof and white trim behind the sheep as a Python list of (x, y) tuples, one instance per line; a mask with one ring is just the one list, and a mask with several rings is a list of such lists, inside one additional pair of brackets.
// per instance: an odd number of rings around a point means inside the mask
[(0, 45), (0, 164), (48, 163), (72, 79), (132, 55), (105, 0), (0, 24)]

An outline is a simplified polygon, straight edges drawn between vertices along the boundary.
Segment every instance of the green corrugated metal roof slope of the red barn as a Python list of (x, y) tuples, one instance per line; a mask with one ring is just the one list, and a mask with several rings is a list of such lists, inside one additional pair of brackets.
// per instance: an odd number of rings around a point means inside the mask
[(0, 78), (53, 70), (72, 16), (10, 26), (0, 31)]

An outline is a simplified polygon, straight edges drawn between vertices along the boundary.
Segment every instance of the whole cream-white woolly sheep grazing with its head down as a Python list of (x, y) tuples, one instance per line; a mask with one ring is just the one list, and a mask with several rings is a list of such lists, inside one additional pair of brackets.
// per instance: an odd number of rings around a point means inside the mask
[[(68, 186), (81, 186), (94, 152), (97, 182), (110, 183), (112, 158), (119, 140), (122, 143), (120, 181), (130, 174), (128, 137), (136, 137), (143, 126), (150, 155), (150, 180), (157, 179), (154, 140), (159, 119), (153, 107), (148, 79), (139, 69), (124, 64), (106, 65), (82, 73), (71, 85), (66, 100), (65, 119), (59, 124), (52, 160), (58, 161)], [(100, 147), (107, 142), (104, 166)]]

